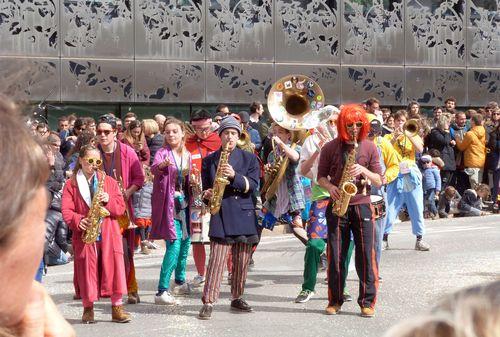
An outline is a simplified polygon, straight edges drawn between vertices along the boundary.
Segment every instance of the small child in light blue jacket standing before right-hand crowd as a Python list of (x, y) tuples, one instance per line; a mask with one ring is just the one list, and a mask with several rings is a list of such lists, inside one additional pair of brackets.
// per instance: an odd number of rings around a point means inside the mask
[(439, 219), (436, 207), (436, 198), (439, 197), (439, 192), (441, 191), (439, 169), (432, 163), (432, 157), (428, 154), (423, 155), (420, 161), (423, 167), (424, 201), (428, 203), (429, 217), (433, 220)]

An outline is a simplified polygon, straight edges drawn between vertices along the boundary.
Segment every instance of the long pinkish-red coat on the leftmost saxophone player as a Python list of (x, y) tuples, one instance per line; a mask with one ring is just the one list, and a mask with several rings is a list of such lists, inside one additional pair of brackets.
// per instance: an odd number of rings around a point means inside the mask
[[(62, 215), (73, 231), (76, 281), (83, 300), (95, 302), (99, 297), (112, 294), (126, 294), (127, 281), (123, 261), (122, 235), (116, 217), (125, 212), (125, 202), (117, 182), (107, 176), (104, 191), (109, 194), (106, 209), (111, 215), (104, 219), (101, 226), (102, 268), (98, 280), (98, 260), (95, 245), (82, 241), (82, 231), (78, 228), (80, 220), (87, 216), (89, 207), (80, 194), (75, 179), (66, 182), (62, 196)], [(99, 287), (100, 284), (100, 287)]]

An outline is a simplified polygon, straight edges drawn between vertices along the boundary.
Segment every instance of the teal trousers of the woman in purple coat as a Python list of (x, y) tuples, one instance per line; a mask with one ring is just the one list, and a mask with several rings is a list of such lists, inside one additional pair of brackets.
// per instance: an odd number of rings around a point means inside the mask
[(163, 263), (160, 270), (160, 281), (158, 290), (166, 291), (170, 285), (170, 278), (175, 270), (175, 283), (183, 284), (186, 282), (186, 262), (189, 254), (191, 240), (189, 237), (182, 239), (182, 228), (179, 220), (174, 220), (177, 239), (173, 241), (166, 240), (167, 251), (163, 257)]

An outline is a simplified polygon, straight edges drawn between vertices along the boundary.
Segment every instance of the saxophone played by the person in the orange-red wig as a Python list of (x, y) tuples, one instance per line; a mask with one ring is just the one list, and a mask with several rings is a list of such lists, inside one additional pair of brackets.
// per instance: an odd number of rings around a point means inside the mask
[(344, 170), (342, 171), (342, 177), (340, 178), (340, 198), (333, 201), (332, 212), (337, 216), (344, 216), (347, 212), (347, 207), (349, 206), (349, 201), (351, 197), (358, 193), (358, 188), (354, 184), (354, 177), (351, 177), (349, 170), (351, 166), (356, 163), (356, 155), (358, 153), (358, 142), (356, 137), (354, 137), (354, 148), (349, 151), (347, 155), (347, 160), (344, 165)]

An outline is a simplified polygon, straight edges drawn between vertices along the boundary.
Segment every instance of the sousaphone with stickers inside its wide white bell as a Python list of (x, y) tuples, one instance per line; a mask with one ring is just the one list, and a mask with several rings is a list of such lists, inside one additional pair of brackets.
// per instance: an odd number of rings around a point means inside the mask
[[(292, 131), (292, 149), (306, 136), (305, 130), (316, 128), (334, 112), (324, 106), (324, 96), (318, 83), (304, 75), (287, 75), (273, 84), (267, 98), (272, 119)], [(274, 146), (273, 146), (274, 151)], [(275, 154), (275, 162), (266, 173), (261, 193), (273, 197), (288, 167), (288, 157)]]

